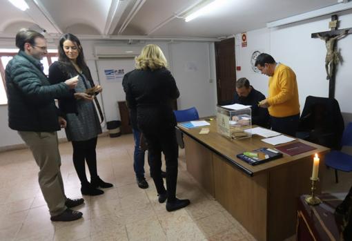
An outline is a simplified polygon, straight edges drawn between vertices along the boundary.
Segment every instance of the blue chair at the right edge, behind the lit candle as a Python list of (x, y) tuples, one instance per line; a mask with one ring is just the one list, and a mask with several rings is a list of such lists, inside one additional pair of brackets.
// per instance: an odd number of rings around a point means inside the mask
[[(352, 122), (344, 129), (341, 145), (352, 146)], [(331, 151), (325, 155), (325, 164), (335, 169), (335, 181), (338, 183), (338, 170), (346, 172), (352, 171), (352, 155), (341, 151)]]

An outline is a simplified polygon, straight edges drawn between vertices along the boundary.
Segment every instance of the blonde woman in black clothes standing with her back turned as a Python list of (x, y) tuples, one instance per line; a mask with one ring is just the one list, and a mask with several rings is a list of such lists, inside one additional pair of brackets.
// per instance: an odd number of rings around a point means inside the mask
[[(137, 116), (139, 131), (146, 137), (153, 177), (159, 202), (166, 202), (167, 211), (182, 209), (189, 200), (176, 197), (178, 146), (175, 136), (176, 118), (171, 103), (179, 97), (175, 79), (167, 69), (162, 50), (148, 44), (136, 57), (136, 69), (124, 81), (126, 102), (131, 115)], [(162, 152), (166, 162), (166, 189), (161, 175)]]

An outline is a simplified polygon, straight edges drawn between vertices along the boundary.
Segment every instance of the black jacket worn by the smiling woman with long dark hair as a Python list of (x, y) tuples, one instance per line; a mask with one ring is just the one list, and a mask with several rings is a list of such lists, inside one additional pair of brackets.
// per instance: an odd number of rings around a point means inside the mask
[[(86, 68), (82, 69), (82, 73), (90, 81), (91, 86), (94, 86), (92, 75), (90, 75), (90, 70)], [(64, 63), (61, 61), (55, 61), (49, 67), (49, 81), (50, 84), (58, 84), (66, 79), (70, 79), (79, 75), (75, 67), (70, 63)], [(75, 90), (70, 90), (71, 95), (69, 97), (59, 98), (59, 108), (63, 113), (78, 113), (77, 112), (77, 100), (74, 97)]]

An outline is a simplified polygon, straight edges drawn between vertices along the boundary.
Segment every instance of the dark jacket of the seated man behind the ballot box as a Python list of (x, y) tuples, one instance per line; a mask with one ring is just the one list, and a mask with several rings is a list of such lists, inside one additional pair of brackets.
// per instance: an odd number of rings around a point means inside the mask
[(265, 99), (265, 95), (260, 91), (255, 90), (252, 87), (251, 93), (247, 97), (239, 97), (235, 92), (232, 104), (243, 104), (245, 106), (251, 106), (252, 110), (252, 124), (263, 126), (267, 128), (269, 126), (269, 113), (267, 108), (261, 108), (258, 106), (258, 102)]

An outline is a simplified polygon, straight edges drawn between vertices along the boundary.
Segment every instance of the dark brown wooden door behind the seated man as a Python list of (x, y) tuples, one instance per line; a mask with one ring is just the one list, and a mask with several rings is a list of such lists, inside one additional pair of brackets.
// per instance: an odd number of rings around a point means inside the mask
[(229, 104), (235, 93), (235, 38), (215, 43), (217, 104)]

